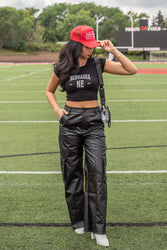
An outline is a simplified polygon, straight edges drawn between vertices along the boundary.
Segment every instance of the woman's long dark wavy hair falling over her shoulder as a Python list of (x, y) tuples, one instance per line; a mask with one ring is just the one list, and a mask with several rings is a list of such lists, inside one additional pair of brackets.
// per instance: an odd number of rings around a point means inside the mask
[(60, 71), (60, 86), (64, 91), (64, 83), (71, 74), (79, 71), (78, 57), (81, 55), (82, 44), (69, 40), (61, 49), (59, 60), (54, 66)]

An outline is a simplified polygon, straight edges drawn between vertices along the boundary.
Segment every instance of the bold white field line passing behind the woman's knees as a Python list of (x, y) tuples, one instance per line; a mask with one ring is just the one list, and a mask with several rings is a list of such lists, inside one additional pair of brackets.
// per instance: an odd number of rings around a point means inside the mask
[[(0, 174), (61, 174), (61, 171), (0, 171)], [(164, 174), (167, 170), (106, 171), (107, 174)]]

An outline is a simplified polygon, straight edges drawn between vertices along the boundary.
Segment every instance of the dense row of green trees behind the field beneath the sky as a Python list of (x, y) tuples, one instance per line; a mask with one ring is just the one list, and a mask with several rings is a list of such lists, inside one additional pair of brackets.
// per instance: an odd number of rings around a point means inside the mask
[[(80, 4), (54, 4), (45, 8), (36, 17), (38, 9), (33, 7), (16, 10), (11, 7), (0, 8), (0, 48), (26, 49), (26, 44), (34, 44), (39, 47), (40, 43), (67, 41), (70, 31), (77, 25), (92, 26), (96, 32), (97, 19), (98, 38), (110, 39), (117, 43), (117, 32), (131, 26), (130, 15), (134, 21), (134, 27), (139, 27), (139, 20), (148, 18), (146, 13), (124, 14), (119, 8), (108, 8), (94, 3)], [(167, 18), (161, 11), (153, 20), (153, 25), (162, 28), (167, 27)], [(33, 46), (33, 45), (32, 45)]]

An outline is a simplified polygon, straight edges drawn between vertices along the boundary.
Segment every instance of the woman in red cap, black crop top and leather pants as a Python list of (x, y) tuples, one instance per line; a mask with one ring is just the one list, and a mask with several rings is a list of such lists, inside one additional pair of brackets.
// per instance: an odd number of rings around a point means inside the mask
[[(106, 144), (97, 98), (98, 75), (92, 57), (94, 48), (101, 46), (119, 61), (100, 58), (102, 72), (132, 75), (137, 69), (111, 41), (96, 41), (90, 26), (75, 27), (70, 38), (60, 52), (46, 96), (60, 121), (61, 168), (71, 224), (76, 233), (90, 231), (91, 238), (96, 239), (98, 245), (107, 247)], [(67, 93), (64, 109), (59, 107), (54, 94), (59, 85)]]

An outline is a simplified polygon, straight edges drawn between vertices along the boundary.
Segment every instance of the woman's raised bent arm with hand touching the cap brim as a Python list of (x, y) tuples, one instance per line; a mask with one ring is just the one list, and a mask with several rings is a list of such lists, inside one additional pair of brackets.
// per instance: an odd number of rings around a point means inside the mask
[(104, 72), (118, 75), (133, 75), (137, 73), (137, 68), (126, 56), (115, 48), (110, 40), (101, 41), (101, 47), (105, 51), (112, 53), (118, 62), (106, 60)]

